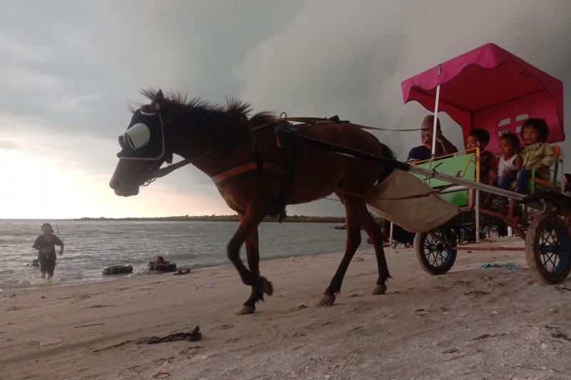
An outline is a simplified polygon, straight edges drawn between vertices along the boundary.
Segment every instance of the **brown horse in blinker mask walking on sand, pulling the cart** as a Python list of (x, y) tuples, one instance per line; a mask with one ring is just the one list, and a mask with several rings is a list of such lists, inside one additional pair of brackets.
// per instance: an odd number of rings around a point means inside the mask
[[(241, 314), (254, 312), (263, 294), (273, 292), (271, 282), (260, 276), (258, 224), (266, 215), (283, 211), (285, 204), (310, 202), (333, 192), (345, 206), (347, 240), (343, 260), (319, 304), (335, 302), (335, 294), (340, 292), (345, 272), (360, 245), (360, 227), (372, 240), (377, 257), (379, 277), (373, 293), (385, 292), (385, 281), (390, 274), (383, 240), (365, 205), (370, 190), (386, 175), (385, 166), (296, 144), (295, 134), (291, 138), (286, 136), (289, 142), (278, 141), (272, 124), (280, 119), (271, 113), (258, 113), (248, 120), (246, 115), (251, 107), (240, 101), (229, 101), (223, 109), (200, 100), (188, 101), (179, 93), (168, 96), (163, 96), (162, 91), (141, 93), (151, 103), (135, 111), (126, 135), (121, 136), (123, 150), (118, 154), (120, 160), (109, 185), (116, 195), (136, 195), (140, 185), (162, 176), (157, 173), (165, 169), (156, 169), (173, 153), (211, 177), (240, 220), (228, 243), (228, 258), (243, 283), (252, 287)], [(147, 125), (151, 132), (138, 134), (136, 130), (145, 130), (141, 125)], [(390, 149), (375, 136), (348, 122), (303, 123), (295, 125), (295, 131), (300, 136), (393, 157)], [(248, 267), (239, 255), (244, 242)]]

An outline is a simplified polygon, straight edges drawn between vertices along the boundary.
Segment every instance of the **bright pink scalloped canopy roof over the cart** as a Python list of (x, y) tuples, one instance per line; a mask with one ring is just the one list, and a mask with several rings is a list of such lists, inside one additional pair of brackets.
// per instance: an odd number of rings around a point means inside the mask
[(519, 133), (527, 118), (547, 121), (550, 143), (565, 140), (562, 82), (494, 43), (403, 81), (403, 101), (434, 111), (438, 84), (438, 111), (462, 126), (464, 140), (470, 130), (484, 128), (490, 132), (487, 149), (497, 153), (499, 136)]

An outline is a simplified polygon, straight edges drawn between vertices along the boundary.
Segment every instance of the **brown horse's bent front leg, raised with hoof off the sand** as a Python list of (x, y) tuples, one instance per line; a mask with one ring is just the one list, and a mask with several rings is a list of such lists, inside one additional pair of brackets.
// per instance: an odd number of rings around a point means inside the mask
[[(262, 221), (263, 217), (266, 215), (266, 212), (261, 210), (252, 210), (251, 208), (246, 211), (246, 213), (240, 218), (240, 225), (238, 226), (238, 230), (228, 242), (228, 259), (232, 262), (234, 267), (238, 270), (238, 274), (242, 279), (242, 282), (248, 286), (253, 288), (253, 293), (256, 294), (263, 294), (266, 293), (268, 295), (272, 295), (273, 287), (271, 282), (269, 282), (264, 277), (261, 277), (259, 274), (259, 269), (257, 268), (258, 264), (256, 263), (256, 268), (254, 270), (250, 270), (246, 268), (242, 260), (240, 259), (240, 247), (242, 246), (243, 242), (248, 240), (248, 237), (251, 236), (254, 230), (257, 230), (258, 224)], [(256, 232), (256, 240), (257, 240), (257, 232)], [(249, 243), (248, 243), (249, 244)], [(256, 244), (256, 251), (257, 251), (257, 244)], [(259, 255), (257, 259), (252, 259), (253, 261), (259, 261)], [(248, 264), (250, 264), (248, 262)], [(254, 304), (256, 302), (253, 302)], [(241, 312), (238, 314), (250, 314), (253, 312), (251, 310), (250, 313), (244, 312), (245, 310), (242, 309)], [(248, 311), (248, 310), (246, 310)]]

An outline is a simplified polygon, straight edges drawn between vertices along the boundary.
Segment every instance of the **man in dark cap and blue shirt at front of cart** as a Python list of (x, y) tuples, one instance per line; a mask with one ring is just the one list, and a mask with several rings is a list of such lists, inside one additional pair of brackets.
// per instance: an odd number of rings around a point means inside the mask
[[(420, 140), (423, 145), (419, 145), (410, 150), (408, 153), (407, 162), (416, 162), (430, 160), (432, 158), (433, 150), (433, 127), (434, 127), (434, 116), (428, 115), (423, 118), (423, 123), (420, 125)], [(441, 155), (449, 155), (458, 152), (453, 143), (448, 141), (440, 129), (440, 120), (436, 119), (436, 150), (435, 155), (439, 157)]]

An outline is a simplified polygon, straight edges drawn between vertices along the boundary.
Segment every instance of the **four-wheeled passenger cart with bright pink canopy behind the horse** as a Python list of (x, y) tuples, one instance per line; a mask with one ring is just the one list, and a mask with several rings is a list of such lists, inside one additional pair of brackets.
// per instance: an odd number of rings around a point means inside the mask
[[(558, 148), (556, 152), (562, 151), (565, 133), (561, 81), (494, 44), (481, 46), (413, 76), (403, 81), (402, 87), (405, 103), (418, 101), (430, 111), (438, 113), (440, 109), (448, 113), (463, 128), (464, 140), (474, 128), (487, 130), (490, 133), (487, 147), (492, 153), (498, 153), (497, 145), (502, 133), (520, 133), (522, 123), (528, 118), (545, 119), (550, 128), (547, 141), (560, 144), (555, 145)], [(473, 160), (475, 173), (478, 170), (477, 157), (478, 154)], [(445, 158), (425, 166), (445, 168), (446, 161), (453, 160), (455, 158)], [(571, 198), (558, 191), (562, 183), (562, 163), (560, 153), (551, 183), (537, 180), (536, 186), (532, 178), (532, 194), (525, 197), (478, 183), (460, 188), (458, 191), (466, 194), (464, 203), (458, 204), (462, 212), (437, 229), (422, 232), (415, 238), (415, 250), (423, 268), (432, 274), (448, 272), (458, 250), (525, 250), (527, 264), (543, 280), (550, 283), (565, 280), (571, 270), (571, 241), (561, 216), (570, 215)], [(458, 168), (459, 165), (456, 166)], [(459, 182), (462, 181), (448, 178), (448, 183)], [(480, 191), (519, 200), (522, 208), (512, 208), (508, 215), (484, 210), (479, 205)], [(502, 223), (525, 239), (525, 247), (457, 245), (455, 231), (460, 227), (475, 228), (478, 239), (480, 225)]]

